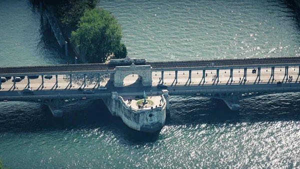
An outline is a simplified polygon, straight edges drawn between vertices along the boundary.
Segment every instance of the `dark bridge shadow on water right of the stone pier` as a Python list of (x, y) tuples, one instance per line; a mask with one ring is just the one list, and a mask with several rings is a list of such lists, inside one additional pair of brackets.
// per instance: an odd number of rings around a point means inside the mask
[(231, 111), (219, 99), (181, 97), (170, 101), (166, 125), (255, 123), (300, 120), (298, 93), (273, 94), (239, 101), (239, 111)]

